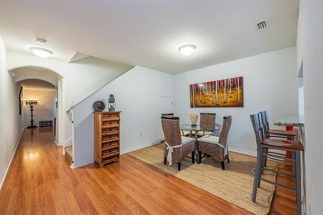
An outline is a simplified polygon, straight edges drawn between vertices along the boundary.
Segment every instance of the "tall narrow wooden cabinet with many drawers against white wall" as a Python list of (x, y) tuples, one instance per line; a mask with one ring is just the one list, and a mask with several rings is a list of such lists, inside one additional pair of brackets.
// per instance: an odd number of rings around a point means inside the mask
[(120, 162), (120, 113), (94, 112), (94, 161), (100, 168)]

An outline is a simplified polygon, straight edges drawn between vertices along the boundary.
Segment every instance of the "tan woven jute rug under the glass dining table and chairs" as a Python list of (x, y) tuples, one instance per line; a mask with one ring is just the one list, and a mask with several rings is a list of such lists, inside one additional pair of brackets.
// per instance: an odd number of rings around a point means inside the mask
[[(251, 170), (256, 166), (256, 158), (243, 154), (230, 152), (230, 166), (225, 162), (222, 170), (221, 163), (213, 157), (202, 155), (201, 164), (192, 164), (191, 156), (187, 156), (181, 162), (181, 171), (178, 171), (178, 163), (164, 165), (165, 144), (157, 144), (141, 150), (128, 153), (129, 156), (143, 161), (151, 166), (167, 172), (183, 181), (199, 187), (219, 198), (222, 198), (253, 214), (267, 214), (273, 199), (275, 185), (261, 182), (257, 190), (256, 203), (251, 201), (254, 176)], [(278, 162), (267, 161), (267, 168), (277, 170)], [(264, 172), (268, 180), (276, 181), (276, 174)]]

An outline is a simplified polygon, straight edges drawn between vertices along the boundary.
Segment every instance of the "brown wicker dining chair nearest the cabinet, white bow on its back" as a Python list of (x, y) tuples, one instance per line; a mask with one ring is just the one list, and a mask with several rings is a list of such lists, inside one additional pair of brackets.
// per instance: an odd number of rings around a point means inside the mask
[(182, 160), (190, 153), (194, 164), (195, 138), (181, 135), (180, 118), (161, 116), (161, 125), (165, 135), (164, 164), (168, 161), (170, 166), (174, 160), (178, 162), (178, 170), (181, 170)]

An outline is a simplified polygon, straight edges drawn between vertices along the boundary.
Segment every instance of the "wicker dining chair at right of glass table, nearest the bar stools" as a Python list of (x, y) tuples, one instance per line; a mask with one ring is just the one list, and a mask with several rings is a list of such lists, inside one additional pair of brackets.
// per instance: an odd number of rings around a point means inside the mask
[(231, 127), (231, 121), (231, 116), (223, 117), (223, 125), (220, 136), (204, 135), (197, 138), (200, 163), (202, 160), (202, 152), (204, 152), (207, 155), (213, 156), (216, 160), (219, 160), (223, 170), (225, 170), (225, 160), (228, 160), (228, 165), (230, 165), (228, 135)]

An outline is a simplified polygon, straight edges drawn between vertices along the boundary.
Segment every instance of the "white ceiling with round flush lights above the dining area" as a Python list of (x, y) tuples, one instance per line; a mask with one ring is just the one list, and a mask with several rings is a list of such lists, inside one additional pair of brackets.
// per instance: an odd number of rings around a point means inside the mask
[[(2, 0), (1, 37), (12, 52), (33, 55), (36, 46), (53, 60), (89, 55), (178, 74), (296, 45), (298, 8), (299, 1)], [(185, 44), (196, 46), (192, 55), (179, 52)]]

